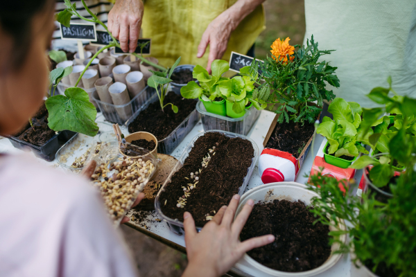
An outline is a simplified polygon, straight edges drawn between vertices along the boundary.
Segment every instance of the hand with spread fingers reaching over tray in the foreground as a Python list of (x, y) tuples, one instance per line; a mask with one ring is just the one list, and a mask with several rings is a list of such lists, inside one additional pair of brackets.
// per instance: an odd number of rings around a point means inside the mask
[(248, 200), (233, 223), (239, 200), (240, 196), (234, 195), (229, 206), (220, 208), (200, 233), (196, 231), (192, 215), (188, 212), (184, 213), (185, 244), (189, 265), (182, 277), (222, 276), (243, 257), (245, 252), (275, 240), (273, 235), (263, 235), (244, 242), (239, 241), (241, 230), (254, 206), (254, 201)]

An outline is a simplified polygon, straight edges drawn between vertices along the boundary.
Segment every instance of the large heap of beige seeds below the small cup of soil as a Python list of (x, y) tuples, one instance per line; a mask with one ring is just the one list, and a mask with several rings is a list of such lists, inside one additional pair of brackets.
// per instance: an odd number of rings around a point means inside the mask
[(114, 224), (119, 224), (125, 211), (130, 209), (153, 170), (155, 166), (150, 160), (126, 157), (97, 166), (91, 177), (92, 183), (101, 190)]

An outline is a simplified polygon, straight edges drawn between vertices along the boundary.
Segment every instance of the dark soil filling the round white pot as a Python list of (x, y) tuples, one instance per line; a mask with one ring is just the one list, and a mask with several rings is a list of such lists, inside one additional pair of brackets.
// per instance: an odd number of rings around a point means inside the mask
[(320, 222), (313, 224), (315, 220), (301, 201), (255, 204), (240, 238), (244, 241), (275, 235), (275, 242), (253, 249), (248, 255), (271, 269), (307, 271), (322, 265), (331, 254), (329, 227)]

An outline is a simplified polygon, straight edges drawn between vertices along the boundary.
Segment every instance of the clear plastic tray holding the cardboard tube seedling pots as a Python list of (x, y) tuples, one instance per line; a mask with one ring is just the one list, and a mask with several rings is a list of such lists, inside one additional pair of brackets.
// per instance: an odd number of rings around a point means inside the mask
[(132, 100), (130, 100), (130, 102), (128, 102), (127, 104), (113, 105), (101, 101), (96, 91), (94, 91), (94, 93), (92, 94), (92, 98), (96, 101), (99, 109), (103, 112), (103, 116), (105, 117), (105, 119), (112, 123), (119, 123), (119, 125), (125, 125), (125, 120), (120, 118), (116, 109), (122, 109), (130, 106), (132, 109), (132, 114), (135, 114), (136, 111), (141, 110), (141, 107), (145, 105), (146, 102), (150, 98), (152, 98), (152, 96), (156, 96), (157, 98), (156, 90), (152, 87), (146, 86), (139, 94), (137, 94), (137, 96), (135, 96), (135, 98), (132, 98)]

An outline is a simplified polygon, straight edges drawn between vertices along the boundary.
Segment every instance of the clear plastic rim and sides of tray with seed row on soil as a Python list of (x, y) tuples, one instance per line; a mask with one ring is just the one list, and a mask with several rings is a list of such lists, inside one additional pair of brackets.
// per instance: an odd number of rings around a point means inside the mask
[[(164, 192), (164, 188), (166, 188), (166, 186), (168, 186), (168, 184), (171, 183), (171, 178), (175, 174), (175, 172), (177, 172), (177, 170), (180, 170), (180, 168), (182, 168), (182, 166), (184, 164), (184, 161), (189, 156), (189, 152), (191, 152), (191, 150), (193, 148), (193, 145), (195, 145), (196, 140), (200, 136), (204, 136), (208, 132), (218, 132), (220, 134), (224, 134), (225, 136), (228, 136), (229, 138), (245, 139), (245, 140), (250, 141), (250, 143), (252, 143), (252, 145), (253, 145), (254, 157), (252, 158), (252, 164), (251, 164), (250, 168), (248, 168), (248, 170), (247, 170), (247, 175), (245, 175), (245, 177), (243, 179), (243, 184), (239, 188), (239, 195), (243, 195), (244, 190), (247, 187), (248, 182), (250, 181), (250, 177), (251, 177), (251, 175), (254, 171), (254, 167), (257, 164), (257, 160), (259, 159), (259, 148), (257, 147), (257, 144), (252, 139), (248, 138), (248, 136), (243, 136), (241, 134), (234, 134), (234, 133), (225, 132), (225, 131), (221, 131), (221, 130), (211, 130), (211, 131), (207, 131), (207, 132), (202, 132), (202, 133), (198, 134), (197, 136), (195, 136), (191, 140), (191, 142), (187, 145), (187, 148), (185, 148), (185, 150), (182, 153), (182, 155), (180, 156), (180, 158), (177, 159), (177, 163), (175, 164), (175, 167), (173, 167), (173, 170), (171, 171), (171, 173), (166, 178), (166, 181), (164, 182), (162, 188), (159, 190), (159, 193), (157, 193), (156, 199), (155, 199), (155, 210), (163, 218), (163, 220), (165, 220), (168, 223), (168, 226), (171, 229), (171, 231), (173, 231), (174, 233), (177, 233), (178, 235), (182, 235), (184, 233), (184, 224), (183, 224), (183, 222), (180, 222), (179, 220), (173, 220), (170, 217), (167, 217), (166, 215), (164, 215), (162, 213), (161, 205), (159, 203), (159, 197), (160, 197), (160, 194), (162, 192)], [(198, 231), (200, 231), (200, 230), (202, 230), (202, 227), (196, 227), (196, 229)]]

